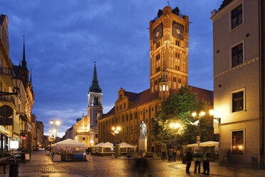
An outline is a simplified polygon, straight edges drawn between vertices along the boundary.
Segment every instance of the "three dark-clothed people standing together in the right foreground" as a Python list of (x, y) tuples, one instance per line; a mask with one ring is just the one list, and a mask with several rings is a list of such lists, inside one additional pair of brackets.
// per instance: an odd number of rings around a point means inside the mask
[(202, 174), (206, 174), (209, 175), (209, 160), (211, 157), (211, 153), (208, 151), (205, 151), (204, 153), (192, 153), (192, 149), (189, 148), (186, 154), (186, 173), (190, 173), (189, 172), (189, 168), (192, 164), (192, 161), (194, 161), (194, 173), (197, 173), (197, 167), (198, 167), (198, 173), (201, 172), (201, 162), (202, 162), (202, 166), (203, 166), (203, 173)]

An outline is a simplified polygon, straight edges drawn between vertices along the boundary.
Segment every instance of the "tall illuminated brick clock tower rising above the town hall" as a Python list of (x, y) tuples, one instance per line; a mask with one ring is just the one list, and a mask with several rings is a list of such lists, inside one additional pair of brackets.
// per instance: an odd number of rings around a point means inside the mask
[(188, 84), (189, 17), (165, 6), (150, 21), (150, 93), (164, 99)]

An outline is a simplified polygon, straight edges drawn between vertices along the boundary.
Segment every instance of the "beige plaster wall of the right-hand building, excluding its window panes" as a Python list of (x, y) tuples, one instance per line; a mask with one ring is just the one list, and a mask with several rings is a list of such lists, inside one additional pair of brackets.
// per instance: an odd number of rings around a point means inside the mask
[[(232, 131), (244, 131), (244, 155), (259, 153), (259, 1), (234, 0), (212, 11), (214, 109), (221, 118), (219, 160), (232, 151)], [(243, 21), (232, 29), (232, 11), (242, 6)], [(232, 67), (232, 48), (243, 45), (243, 63)], [(244, 91), (244, 108), (232, 112), (232, 93)]]

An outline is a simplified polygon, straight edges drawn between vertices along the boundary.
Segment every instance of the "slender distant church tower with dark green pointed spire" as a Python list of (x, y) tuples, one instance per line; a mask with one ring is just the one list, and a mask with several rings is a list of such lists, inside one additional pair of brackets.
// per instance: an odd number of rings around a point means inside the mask
[(102, 115), (102, 90), (98, 84), (97, 69), (94, 66), (93, 81), (88, 91), (88, 116), (90, 127), (98, 125), (98, 117)]

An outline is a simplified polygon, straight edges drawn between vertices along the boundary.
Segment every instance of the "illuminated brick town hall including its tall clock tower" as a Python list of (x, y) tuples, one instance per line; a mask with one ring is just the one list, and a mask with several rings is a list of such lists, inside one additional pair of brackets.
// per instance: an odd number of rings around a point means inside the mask
[[(150, 89), (140, 93), (120, 88), (115, 106), (98, 117), (98, 142), (126, 142), (137, 146), (140, 122), (147, 125), (147, 151), (160, 151), (151, 135), (152, 118), (167, 96), (188, 84), (189, 16), (165, 6), (150, 21)], [(190, 86), (199, 100), (213, 103), (213, 92)], [(111, 128), (121, 130), (113, 136)]]

